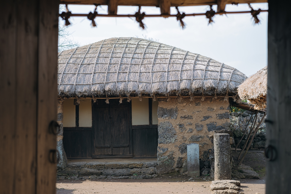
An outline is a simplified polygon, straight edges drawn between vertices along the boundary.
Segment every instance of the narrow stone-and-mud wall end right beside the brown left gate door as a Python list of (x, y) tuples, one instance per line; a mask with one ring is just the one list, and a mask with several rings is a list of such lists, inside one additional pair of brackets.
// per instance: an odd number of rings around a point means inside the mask
[(58, 129), (58, 134), (57, 134), (57, 143), (56, 143), (56, 149), (58, 150), (58, 164), (57, 167), (58, 169), (65, 169), (67, 167), (67, 156), (64, 150), (63, 146), (63, 102), (64, 99), (59, 98), (58, 99), (58, 107), (57, 107), (57, 123), (60, 125), (60, 128)]

